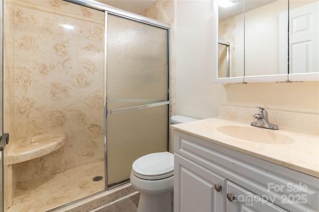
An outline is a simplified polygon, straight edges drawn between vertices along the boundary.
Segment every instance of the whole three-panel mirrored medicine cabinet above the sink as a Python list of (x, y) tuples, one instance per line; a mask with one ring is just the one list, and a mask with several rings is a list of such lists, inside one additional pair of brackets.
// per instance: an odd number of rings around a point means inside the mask
[(226, 1), (218, 0), (219, 82), (318, 80), (319, 0)]

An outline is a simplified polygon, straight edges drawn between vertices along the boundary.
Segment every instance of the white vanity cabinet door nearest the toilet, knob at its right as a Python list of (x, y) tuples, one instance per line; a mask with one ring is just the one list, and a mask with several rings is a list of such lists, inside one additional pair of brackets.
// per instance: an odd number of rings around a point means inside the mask
[(223, 178), (176, 154), (174, 163), (174, 212), (224, 212)]

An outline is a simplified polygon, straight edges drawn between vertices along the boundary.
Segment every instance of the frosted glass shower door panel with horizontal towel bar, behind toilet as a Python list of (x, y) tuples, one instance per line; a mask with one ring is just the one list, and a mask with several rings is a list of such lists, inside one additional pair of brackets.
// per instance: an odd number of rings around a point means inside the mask
[(108, 187), (137, 158), (167, 151), (168, 29), (107, 15)]

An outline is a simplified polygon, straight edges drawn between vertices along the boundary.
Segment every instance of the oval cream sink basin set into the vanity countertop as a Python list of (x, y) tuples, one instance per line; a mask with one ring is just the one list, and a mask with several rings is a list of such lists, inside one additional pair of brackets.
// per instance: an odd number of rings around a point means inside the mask
[(245, 141), (268, 144), (290, 144), (295, 142), (292, 137), (265, 128), (226, 125), (218, 127), (217, 130), (227, 136)]

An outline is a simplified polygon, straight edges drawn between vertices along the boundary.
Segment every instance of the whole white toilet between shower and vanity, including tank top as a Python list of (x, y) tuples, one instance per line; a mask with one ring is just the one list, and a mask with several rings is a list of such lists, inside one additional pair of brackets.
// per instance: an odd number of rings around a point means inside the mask
[[(192, 122), (185, 116), (172, 116), (172, 124)], [(130, 180), (140, 192), (138, 212), (171, 212), (174, 187), (174, 155), (168, 151), (144, 155), (134, 161)]]

